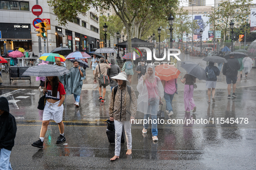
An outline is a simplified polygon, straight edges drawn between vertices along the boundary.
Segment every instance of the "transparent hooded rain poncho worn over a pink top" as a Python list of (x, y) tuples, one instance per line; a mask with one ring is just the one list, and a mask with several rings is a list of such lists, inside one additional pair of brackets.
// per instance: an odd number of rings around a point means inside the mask
[(164, 88), (160, 78), (155, 76), (155, 66), (148, 65), (146, 73), (148, 73), (149, 68), (153, 69), (153, 74), (148, 76), (144, 85), (143, 76), (141, 76), (137, 85), (137, 90), (139, 91), (137, 111), (144, 114), (157, 115), (157, 110), (151, 110), (152, 107), (149, 107), (149, 105), (159, 104), (160, 98), (164, 97)]

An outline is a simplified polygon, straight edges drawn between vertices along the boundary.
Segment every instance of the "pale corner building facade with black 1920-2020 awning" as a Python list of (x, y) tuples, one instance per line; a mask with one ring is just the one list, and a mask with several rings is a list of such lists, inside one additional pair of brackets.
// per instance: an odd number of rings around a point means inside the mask
[[(32, 13), (32, 6), (36, 0), (0, 0), (0, 53), (3, 54), (3, 44), (6, 43), (7, 50), (14, 50), (15, 47), (23, 47), (25, 50), (32, 50), (39, 55), (39, 37), (33, 26), (33, 20), (37, 16)], [(84, 15), (78, 15), (73, 22), (67, 25), (59, 25), (56, 15), (47, 0), (40, 0), (42, 14), (39, 16), (47, 22), (49, 30), (45, 40), (41, 38), (42, 54), (51, 52), (56, 47), (68, 47), (71, 51), (87, 50), (99, 47), (99, 13), (97, 7), (91, 7)], [(40, 21), (39, 21), (40, 22)]]

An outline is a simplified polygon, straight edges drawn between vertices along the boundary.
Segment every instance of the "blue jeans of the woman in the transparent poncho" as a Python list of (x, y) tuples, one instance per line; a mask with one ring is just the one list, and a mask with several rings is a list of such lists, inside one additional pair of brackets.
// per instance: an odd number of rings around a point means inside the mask
[[(152, 131), (153, 136), (158, 135), (157, 116), (156, 116), (157, 110), (158, 110), (158, 105), (159, 105), (159, 100), (149, 102), (148, 111), (147, 111), (147, 113), (151, 113), (151, 120), (152, 120), (151, 131)], [(144, 114), (144, 119), (149, 120), (149, 116), (150, 116), (150, 114)], [(144, 124), (144, 129), (148, 129), (148, 127), (149, 127), (149, 121)]]

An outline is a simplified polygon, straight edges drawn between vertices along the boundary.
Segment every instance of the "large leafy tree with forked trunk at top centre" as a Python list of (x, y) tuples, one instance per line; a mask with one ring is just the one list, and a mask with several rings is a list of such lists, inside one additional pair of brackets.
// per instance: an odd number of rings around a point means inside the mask
[[(128, 37), (128, 51), (131, 50), (131, 38), (143, 30), (143, 25), (148, 25), (152, 19), (168, 18), (170, 11), (177, 8), (178, 0), (48, 0), (54, 6), (54, 13), (63, 25), (72, 21), (78, 14), (84, 14), (90, 5), (101, 9), (113, 7), (116, 15), (123, 22)], [(174, 13), (172, 14), (174, 15)]]

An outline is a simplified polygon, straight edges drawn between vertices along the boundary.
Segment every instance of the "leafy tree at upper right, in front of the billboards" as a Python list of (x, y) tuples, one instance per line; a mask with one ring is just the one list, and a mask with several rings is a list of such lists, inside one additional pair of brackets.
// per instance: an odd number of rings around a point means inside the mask
[(253, 0), (229, 0), (219, 3), (219, 6), (215, 8), (214, 13), (206, 15), (209, 17), (208, 23), (213, 23), (215, 30), (224, 32), (224, 37), (226, 37), (227, 29), (229, 29), (229, 24), (232, 20), (235, 25), (245, 24), (246, 16), (250, 15), (250, 5), (252, 4), (252, 1)]

